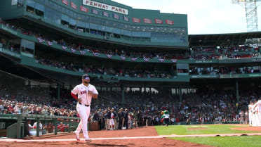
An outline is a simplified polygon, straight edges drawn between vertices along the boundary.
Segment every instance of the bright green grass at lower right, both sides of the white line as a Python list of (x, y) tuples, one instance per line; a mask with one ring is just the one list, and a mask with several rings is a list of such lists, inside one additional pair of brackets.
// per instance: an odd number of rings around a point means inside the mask
[[(203, 127), (206, 129), (189, 129)], [(156, 126), (159, 135), (191, 135), (191, 134), (244, 134), (254, 133), (250, 131), (239, 131), (230, 128), (241, 127), (236, 125), (175, 125), (175, 126)], [(247, 127), (247, 126), (246, 126)], [(170, 138), (180, 141), (205, 144), (218, 147), (261, 147), (261, 136), (210, 136), (210, 137), (175, 137)]]

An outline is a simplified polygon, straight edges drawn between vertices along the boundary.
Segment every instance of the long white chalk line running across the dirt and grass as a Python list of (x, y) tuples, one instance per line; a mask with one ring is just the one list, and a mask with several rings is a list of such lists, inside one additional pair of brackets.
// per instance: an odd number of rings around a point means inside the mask
[[(114, 137), (114, 138), (92, 138), (91, 140), (121, 140), (121, 139), (161, 139), (168, 137), (206, 137), (206, 136), (256, 136), (261, 133), (246, 133), (246, 134), (194, 134), (194, 135), (159, 135), (159, 136), (135, 136), (135, 137)], [(81, 139), (84, 141), (85, 139)], [(48, 141), (76, 141), (76, 139), (0, 139), (6, 142), (48, 142)]]

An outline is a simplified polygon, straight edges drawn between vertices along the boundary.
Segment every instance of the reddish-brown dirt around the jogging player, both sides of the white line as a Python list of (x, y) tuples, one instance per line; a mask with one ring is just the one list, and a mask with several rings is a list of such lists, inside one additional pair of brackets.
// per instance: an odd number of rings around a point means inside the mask
[[(89, 136), (92, 139), (95, 138), (112, 138), (112, 137), (124, 137), (124, 136), (158, 136), (156, 129), (154, 127), (143, 127), (138, 129), (128, 129), (128, 130), (110, 130), (110, 131), (93, 131), (89, 132)], [(41, 139), (41, 138), (40, 138)], [(47, 138), (46, 138), (47, 139)], [(48, 139), (74, 139), (74, 134), (62, 135), (62, 136), (52, 136)], [(81, 134), (81, 139), (83, 136)], [(34, 139), (33, 139), (34, 140)], [(102, 140), (93, 140), (91, 143), (84, 143), (84, 141), (45, 141), (41, 139), (40, 142), (6, 142), (1, 141), (1, 146), (4, 147), (75, 147), (75, 146), (138, 146), (138, 147), (161, 147), (161, 146), (205, 146), (196, 143), (187, 143), (184, 141), (176, 141), (173, 139), (167, 138), (156, 138), (156, 139), (102, 139)]]

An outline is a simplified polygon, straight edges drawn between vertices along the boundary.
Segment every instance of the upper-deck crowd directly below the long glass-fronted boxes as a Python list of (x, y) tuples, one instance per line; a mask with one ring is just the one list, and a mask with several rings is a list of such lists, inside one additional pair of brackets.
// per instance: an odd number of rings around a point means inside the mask
[(82, 44), (81, 42), (74, 42), (72, 40), (65, 40), (62, 38), (54, 38), (53, 34), (44, 34), (39, 29), (35, 27), (25, 28), (15, 23), (6, 23), (3, 20), (0, 20), (0, 24), (6, 25), (15, 31), (21, 32), (29, 36), (33, 36), (39, 41), (50, 41), (52, 44), (58, 44), (64, 46), (67, 49), (74, 49), (75, 51), (87, 51), (91, 53), (105, 53), (112, 56), (121, 56), (125, 58), (159, 58), (159, 59), (170, 59), (170, 58), (183, 58), (182, 54), (177, 53), (156, 53), (152, 51), (141, 52), (141, 51), (127, 51), (123, 49), (104, 49), (102, 47), (90, 46), (88, 44)]

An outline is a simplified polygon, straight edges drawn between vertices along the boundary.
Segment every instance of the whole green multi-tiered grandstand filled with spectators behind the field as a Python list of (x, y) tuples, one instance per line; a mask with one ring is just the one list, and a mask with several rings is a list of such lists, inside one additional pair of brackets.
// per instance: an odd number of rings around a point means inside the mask
[(171, 124), (239, 122), (261, 96), (261, 32), (190, 35), (187, 15), (110, 0), (1, 0), (0, 18), (3, 114), (76, 117), (84, 73), (100, 129), (111, 108), (138, 126), (161, 124), (163, 110)]

